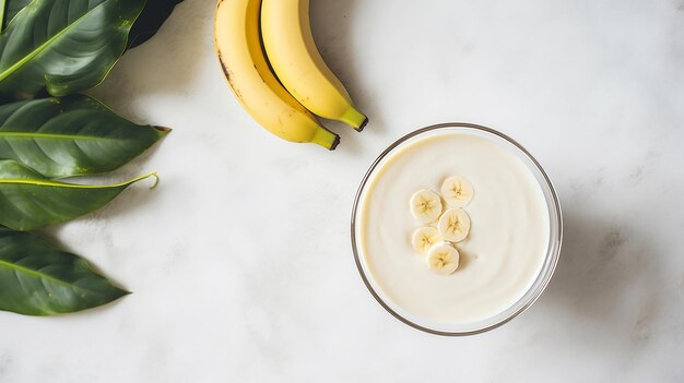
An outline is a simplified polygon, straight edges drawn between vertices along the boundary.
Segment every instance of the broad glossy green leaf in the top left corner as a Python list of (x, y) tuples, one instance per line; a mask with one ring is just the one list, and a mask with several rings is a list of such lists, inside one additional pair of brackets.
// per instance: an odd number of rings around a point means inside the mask
[(99, 84), (144, 0), (33, 0), (0, 35), (0, 93), (64, 96)]

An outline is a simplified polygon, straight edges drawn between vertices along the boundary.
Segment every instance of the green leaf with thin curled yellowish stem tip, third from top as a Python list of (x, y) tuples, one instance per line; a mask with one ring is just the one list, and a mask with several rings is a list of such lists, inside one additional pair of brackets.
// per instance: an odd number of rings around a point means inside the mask
[(63, 223), (101, 208), (149, 177), (156, 179), (156, 173), (113, 185), (74, 184), (49, 180), (12, 159), (0, 160), (0, 225), (33, 230)]

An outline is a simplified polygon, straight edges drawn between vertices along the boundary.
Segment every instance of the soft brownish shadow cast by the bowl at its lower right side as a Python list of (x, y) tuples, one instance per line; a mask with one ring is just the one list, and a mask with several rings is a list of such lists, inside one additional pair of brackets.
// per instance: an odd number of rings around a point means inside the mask
[[(552, 311), (549, 316), (571, 318), (573, 333), (581, 334), (574, 342), (606, 348), (645, 345), (663, 289), (662, 265), (650, 254), (653, 246), (628, 223), (600, 212), (565, 213), (561, 258), (536, 308)], [(635, 288), (640, 288), (641, 307), (636, 318), (625, 318)], [(627, 333), (622, 324), (629, 320)]]

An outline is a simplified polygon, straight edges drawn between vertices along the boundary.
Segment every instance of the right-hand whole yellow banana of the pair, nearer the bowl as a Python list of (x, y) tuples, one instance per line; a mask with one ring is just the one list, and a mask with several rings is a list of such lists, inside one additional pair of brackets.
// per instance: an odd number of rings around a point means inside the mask
[(285, 88), (314, 113), (362, 131), (368, 122), (321, 58), (309, 24), (309, 0), (263, 0), (261, 36)]

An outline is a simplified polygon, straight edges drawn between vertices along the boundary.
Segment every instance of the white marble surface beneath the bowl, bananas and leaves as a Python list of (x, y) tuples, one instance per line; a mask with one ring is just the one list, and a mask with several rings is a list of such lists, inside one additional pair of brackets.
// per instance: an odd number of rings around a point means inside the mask
[[(0, 313), (0, 382), (681, 382), (684, 2), (314, 0), (315, 35), (370, 116), (334, 153), (278, 141), (224, 84), (214, 1), (186, 0), (94, 94), (175, 130), (158, 170), (49, 230), (133, 295), (59, 318)], [(491, 125), (565, 210), (556, 275), (494, 332), (386, 313), (356, 272), (356, 187), (390, 142)]]

